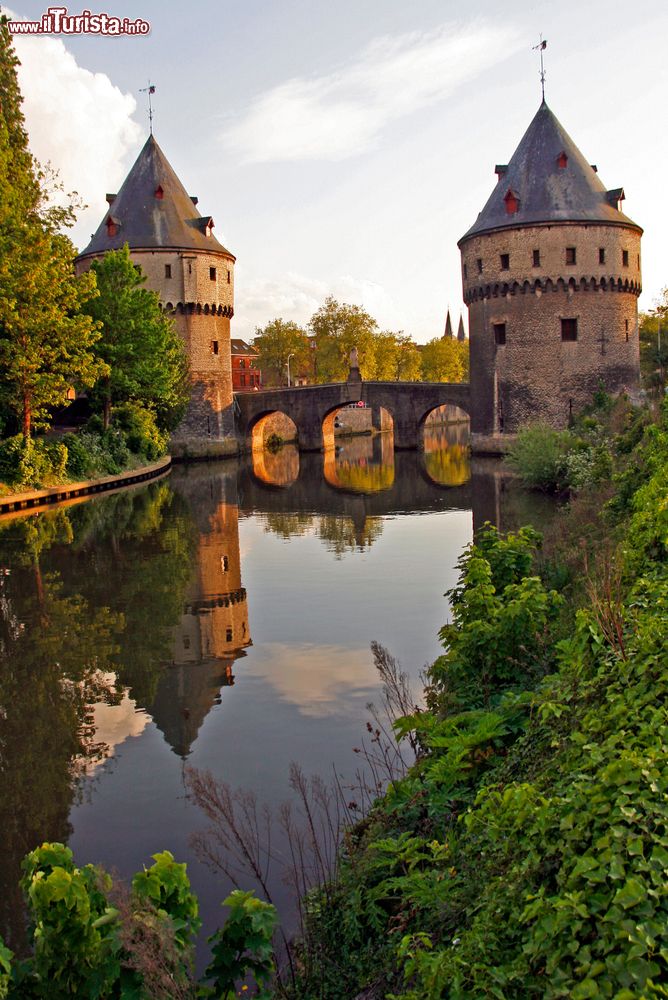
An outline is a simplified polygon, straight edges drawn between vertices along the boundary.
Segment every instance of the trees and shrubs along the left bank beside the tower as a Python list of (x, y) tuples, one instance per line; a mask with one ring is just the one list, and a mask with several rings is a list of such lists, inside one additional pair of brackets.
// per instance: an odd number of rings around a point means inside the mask
[[(164, 454), (188, 398), (185, 351), (127, 247), (77, 275), (63, 197), (28, 148), (0, 17), (0, 491), (114, 474)], [(54, 430), (76, 396), (92, 419)]]

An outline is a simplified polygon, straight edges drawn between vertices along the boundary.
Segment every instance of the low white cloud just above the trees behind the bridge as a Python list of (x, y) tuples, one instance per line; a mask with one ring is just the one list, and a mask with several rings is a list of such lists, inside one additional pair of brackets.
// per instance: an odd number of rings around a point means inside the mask
[(246, 278), (237, 266), (235, 277), (234, 336), (252, 337), (255, 328), (272, 319), (292, 320), (305, 326), (328, 295), (339, 302), (362, 306), (381, 328), (397, 329), (399, 308), (377, 282), (339, 275), (320, 281), (288, 271), (280, 278)]

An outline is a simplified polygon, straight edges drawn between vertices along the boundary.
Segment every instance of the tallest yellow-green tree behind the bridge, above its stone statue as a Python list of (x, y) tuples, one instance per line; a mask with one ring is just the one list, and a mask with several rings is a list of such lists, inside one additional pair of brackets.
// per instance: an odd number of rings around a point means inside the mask
[(373, 378), (378, 324), (360, 306), (325, 299), (309, 322), (317, 350), (318, 382), (342, 382), (350, 368), (350, 352), (357, 348), (362, 378)]

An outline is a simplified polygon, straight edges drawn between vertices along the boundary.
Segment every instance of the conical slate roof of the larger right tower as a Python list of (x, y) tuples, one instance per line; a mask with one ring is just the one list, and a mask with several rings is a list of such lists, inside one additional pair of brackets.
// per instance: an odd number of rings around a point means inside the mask
[(598, 222), (642, 232), (617, 207), (623, 190), (606, 190), (545, 101), (510, 163), (496, 172), (494, 191), (459, 245), (478, 233), (541, 222)]

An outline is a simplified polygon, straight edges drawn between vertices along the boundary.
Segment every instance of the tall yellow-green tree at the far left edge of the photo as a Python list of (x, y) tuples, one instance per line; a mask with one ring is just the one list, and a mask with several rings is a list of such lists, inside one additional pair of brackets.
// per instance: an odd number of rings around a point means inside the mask
[(96, 324), (80, 311), (95, 279), (75, 276), (75, 249), (62, 232), (73, 207), (48, 204), (46, 177), (28, 150), (17, 65), (1, 17), (0, 383), (5, 410), (29, 438), (72, 385), (93, 385), (106, 366), (91, 353)]

